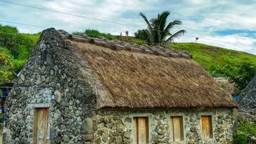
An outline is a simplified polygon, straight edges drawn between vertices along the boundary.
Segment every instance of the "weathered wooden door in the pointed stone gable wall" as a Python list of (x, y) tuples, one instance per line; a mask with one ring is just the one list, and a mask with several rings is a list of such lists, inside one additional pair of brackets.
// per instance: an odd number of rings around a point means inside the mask
[(33, 144), (49, 144), (49, 107), (34, 110)]

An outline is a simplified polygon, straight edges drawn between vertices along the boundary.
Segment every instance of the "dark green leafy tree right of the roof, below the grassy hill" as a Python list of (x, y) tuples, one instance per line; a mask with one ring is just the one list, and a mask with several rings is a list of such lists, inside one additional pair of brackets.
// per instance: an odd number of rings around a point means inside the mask
[(212, 68), (214, 75), (219, 74), (224, 77), (228, 77), (230, 82), (234, 82), (237, 90), (235, 92), (239, 94), (256, 76), (256, 66), (251, 62), (241, 62), (240, 64), (230, 65), (217, 65)]

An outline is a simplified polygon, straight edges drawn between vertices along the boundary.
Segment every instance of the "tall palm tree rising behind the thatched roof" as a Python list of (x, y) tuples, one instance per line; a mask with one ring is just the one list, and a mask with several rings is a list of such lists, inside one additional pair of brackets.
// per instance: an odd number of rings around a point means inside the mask
[(176, 25), (181, 25), (182, 22), (179, 20), (174, 20), (166, 25), (166, 21), (169, 15), (170, 11), (163, 11), (161, 14), (158, 14), (156, 18), (148, 21), (147, 17), (143, 13), (140, 13), (140, 16), (144, 19), (144, 21), (146, 21), (146, 24), (148, 25), (148, 29), (146, 31), (149, 37), (148, 43), (163, 44), (166, 42), (174, 42), (174, 39), (186, 33), (186, 31), (182, 29), (174, 34), (171, 34), (171, 29)]

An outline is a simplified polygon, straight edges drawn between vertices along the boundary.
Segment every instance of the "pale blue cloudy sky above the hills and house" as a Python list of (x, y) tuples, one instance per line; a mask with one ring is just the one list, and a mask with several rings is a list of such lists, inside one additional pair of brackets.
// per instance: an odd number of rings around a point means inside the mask
[[(6, 4), (0, 0), (0, 24), (17, 27), (19, 32), (36, 33), (47, 27), (67, 32), (98, 29), (110, 34), (133, 35), (145, 29), (146, 23), (139, 16), (143, 12), (148, 19), (161, 11), (170, 11), (169, 21), (179, 19), (183, 24), (172, 33), (185, 29), (186, 34), (176, 42), (198, 42), (256, 54), (256, 0), (10, 0), (19, 4), (62, 11), (79, 16), (43, 11), (26, 6)], [(103, 19), (120, 24), (97, 21)], [(40, 26), (28, 27), (16, 23)], [(125, 25), (126, 24), (126, 25)], [(45, 27), (45, 28), (44, 28)]]

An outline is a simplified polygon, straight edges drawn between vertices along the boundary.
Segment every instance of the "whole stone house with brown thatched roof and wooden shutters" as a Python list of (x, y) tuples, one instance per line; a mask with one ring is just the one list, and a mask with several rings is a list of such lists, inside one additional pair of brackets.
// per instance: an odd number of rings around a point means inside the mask
[(237, 105), (186, 52), (46, 29), (4, 143), (231, 143)]

